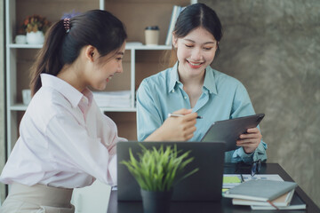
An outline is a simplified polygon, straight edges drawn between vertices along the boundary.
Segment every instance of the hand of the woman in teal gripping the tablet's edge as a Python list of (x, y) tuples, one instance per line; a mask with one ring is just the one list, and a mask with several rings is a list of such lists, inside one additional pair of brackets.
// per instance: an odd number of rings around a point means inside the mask
[(251, 154), (259, 146), (262, 135), (256, 128), (248, 129), (246, 133), (240, 135), (236, 140), (236, 146), (243, 146), (246, 154)]

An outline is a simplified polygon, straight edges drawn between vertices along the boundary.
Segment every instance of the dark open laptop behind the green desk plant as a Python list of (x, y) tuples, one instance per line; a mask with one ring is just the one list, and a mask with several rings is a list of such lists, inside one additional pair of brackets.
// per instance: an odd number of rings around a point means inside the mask
[(120, 163), (129, 160), (129, 148), (138, 159), (142, 144), (150, 149), (153, 146), (159, 148), (166, 146), (177, 146), (182, 153), (191, 150), (188, 157), (195, 157), (186, 167), (186, 172), (199, 168), (199, 170), (182, 179), (174, 185), (172, 201), (220, 201), (223, 166), (224, 166), (224, 142), (119, 142), (116, 146), (117, 154), (117, 199), (118, 201), (141, 201), (140, 186), (132, 177), (132, 174)]

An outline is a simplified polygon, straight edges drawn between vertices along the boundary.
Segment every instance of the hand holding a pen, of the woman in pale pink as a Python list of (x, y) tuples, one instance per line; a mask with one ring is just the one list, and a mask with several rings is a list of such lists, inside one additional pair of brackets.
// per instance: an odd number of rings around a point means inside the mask
[(155, 130), (146, 141), (185, 141), (196, 131), (196, 113), (192, 109), (180, 109), (173, 114), (185, 114), (180, 117), (168, 117), (163, 125)]

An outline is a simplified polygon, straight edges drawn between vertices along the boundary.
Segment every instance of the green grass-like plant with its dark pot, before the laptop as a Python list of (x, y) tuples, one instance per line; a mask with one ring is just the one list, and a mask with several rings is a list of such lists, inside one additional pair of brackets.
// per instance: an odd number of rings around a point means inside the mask
[(188, 158), (191, 151), (182, 153), (177, 150), (177, 146), (160, 146), (159, 149), (153, 147), (148, 150), (142, 146), (142, 151), (136, 160), (129, 149), (130, 160), (123, 161), (132, 176), (140, 185), (143, 209), (145, 213), (165, 213), (170, 210), (173, 185), (180, 180), (194, 174), (195, 170), (185, 173), (188, 163), (194, 160)]

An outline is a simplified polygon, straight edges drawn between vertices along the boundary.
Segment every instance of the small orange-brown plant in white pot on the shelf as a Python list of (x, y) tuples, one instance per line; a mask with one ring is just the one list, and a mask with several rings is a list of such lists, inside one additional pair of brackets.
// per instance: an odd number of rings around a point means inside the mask
[(50, 27), (50, 22), (40, 15), (28, 16), (21, 25), (21, 29), (27, 33), (27, 43), (44, 43), (45, 31)]

